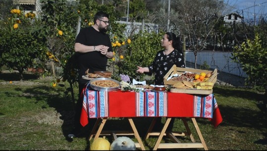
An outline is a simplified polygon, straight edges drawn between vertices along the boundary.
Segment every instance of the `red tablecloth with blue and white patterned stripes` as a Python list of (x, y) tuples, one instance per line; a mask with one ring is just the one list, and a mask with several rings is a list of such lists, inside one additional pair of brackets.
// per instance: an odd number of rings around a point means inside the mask
[(83, 90), (80, 122), (101, 117), (202, 117), (214, 127), (222, 122), (216, 99), (211, 95), (171, 92), (105, 92)]

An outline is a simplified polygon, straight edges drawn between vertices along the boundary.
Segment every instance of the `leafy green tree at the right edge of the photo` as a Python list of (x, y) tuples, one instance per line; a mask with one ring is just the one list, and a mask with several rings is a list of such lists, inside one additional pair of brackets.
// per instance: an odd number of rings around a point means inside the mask
[(240, 63), (246, 72), (246, 85), (264, 88), (267, 95), (267, 45), (266, 31), (256, 33), (254, 40), (246, 40), (240, 46), (235, 46), (232, 58)]

